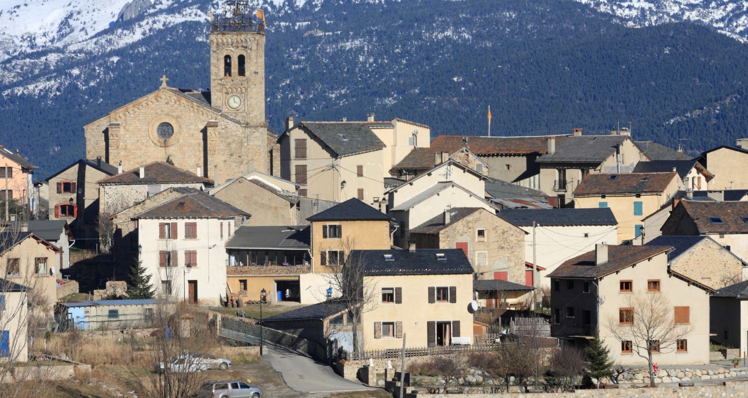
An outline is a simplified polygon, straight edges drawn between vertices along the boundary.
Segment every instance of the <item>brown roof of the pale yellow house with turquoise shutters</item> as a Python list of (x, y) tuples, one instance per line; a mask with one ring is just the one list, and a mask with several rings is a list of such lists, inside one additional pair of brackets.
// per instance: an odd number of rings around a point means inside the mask
[(588, 174), (574, 196), (616, 193), (657, 193), (666, 190), (677, 172), (604, 172)]

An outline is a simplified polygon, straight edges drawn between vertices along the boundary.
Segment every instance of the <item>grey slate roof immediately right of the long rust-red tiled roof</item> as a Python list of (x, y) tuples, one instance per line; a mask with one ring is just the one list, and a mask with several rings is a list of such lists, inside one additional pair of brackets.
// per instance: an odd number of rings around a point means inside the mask
[(616, 153), (616, 146), (625, 140), (626, 135), (580, 135), (556, 140), (556, 153), (542, 155), (538, 163), (592, 163), (598, 164)]

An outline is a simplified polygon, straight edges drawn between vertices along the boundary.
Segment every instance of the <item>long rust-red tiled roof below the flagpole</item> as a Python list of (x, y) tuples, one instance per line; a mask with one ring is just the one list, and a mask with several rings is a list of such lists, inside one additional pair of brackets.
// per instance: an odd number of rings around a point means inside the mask
[[(548, 152), (548, 137), (479, 137), (465, 135), (440, 135), (431, 143), (431, 149), (454, 153), (465, 146), (463, 138), (468, 138), (468, 149), (476, 155), (529, 155)], [(556, 135), (556, 145), (568, 135)], [(432, 157), (433, 158), (433, 157)]]

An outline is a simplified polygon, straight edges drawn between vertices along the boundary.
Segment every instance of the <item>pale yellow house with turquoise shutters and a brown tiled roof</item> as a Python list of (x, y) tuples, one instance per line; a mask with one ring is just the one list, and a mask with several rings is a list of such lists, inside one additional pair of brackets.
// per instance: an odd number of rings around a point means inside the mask
[(574, 190), (574, 207), (610, 208), (618, 221), (616, 243), (622, 243), (640, 237), (644, 219), (682, 188), (677, 172), (590, 174)]

